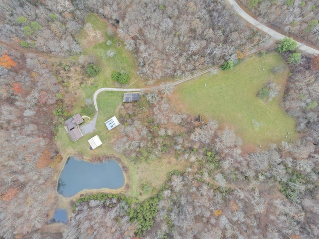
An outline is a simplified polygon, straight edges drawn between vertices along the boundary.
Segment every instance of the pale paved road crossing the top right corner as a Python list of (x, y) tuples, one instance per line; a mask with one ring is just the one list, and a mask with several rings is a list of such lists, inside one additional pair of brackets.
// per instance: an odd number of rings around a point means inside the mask
[[(260, 30), (266, 32), (267, 34), (269, 34), (270, 36), (274, 37), (277, 40), (282, 40), (285, 38), (285, 35), (274, 31), (273, 29), (269, 28), (268, 26), (263, 25), (262, 23), (260, 23), (259, 21), (257, 21), (256, 19), (254, 19), (253, 17), (251, 17), (246, 11), (244, 11), (235, 0), (227, 0), (229, 2), (229, 4), (232, 5), (232, 7), (235, 9), (235, 11), (242, 17), (244, 18), (246, 21), (248, 21), (249, 23), (251, 23), (252, 25), (256, 26), (257, 28), (259, 28)], [(298, 42), (298, 48), (302, 51), (305, 51), (309, 54), (312, 55), (316, 55), (319, 54), (319, 50), (314, 49), (310, 46), (307, 46), (301, 42)]]

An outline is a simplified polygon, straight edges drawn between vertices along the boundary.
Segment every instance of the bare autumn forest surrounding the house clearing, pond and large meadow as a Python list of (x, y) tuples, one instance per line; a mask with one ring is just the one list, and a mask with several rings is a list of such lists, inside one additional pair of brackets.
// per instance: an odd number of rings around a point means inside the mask
[[(242, 4), (318, 47), (317, 1)], [(86, 68), (99, 56), (83, 56), (78, 40), (83, 29), (102, 38), (85, 24), (91, 12), (134, 53), (144, 84), (160, 86), (118, 107), (114, 150), (131, 165), (174, 158), (186, 166), (165, 175), (157, 191), (143, 185), (141, 194), (151, 191), (144, 200), (82, 195), (68, 223), (48, 226), (63, 159), (57, 130), (79, 97), (71, 87), (85, 87), (59, 77), (79, 72), (91, 82)], [(287, 62), (282, 105), (299, 140), (243, 150), (231, 126), (188, 114), (162, 83), (224, 62), (240, 67), (251, 51), (278, 51)], [(319, 56), (284, 49), (222, 0), (0, 0), (0, 238), (318, 238), (318, 102)]]

